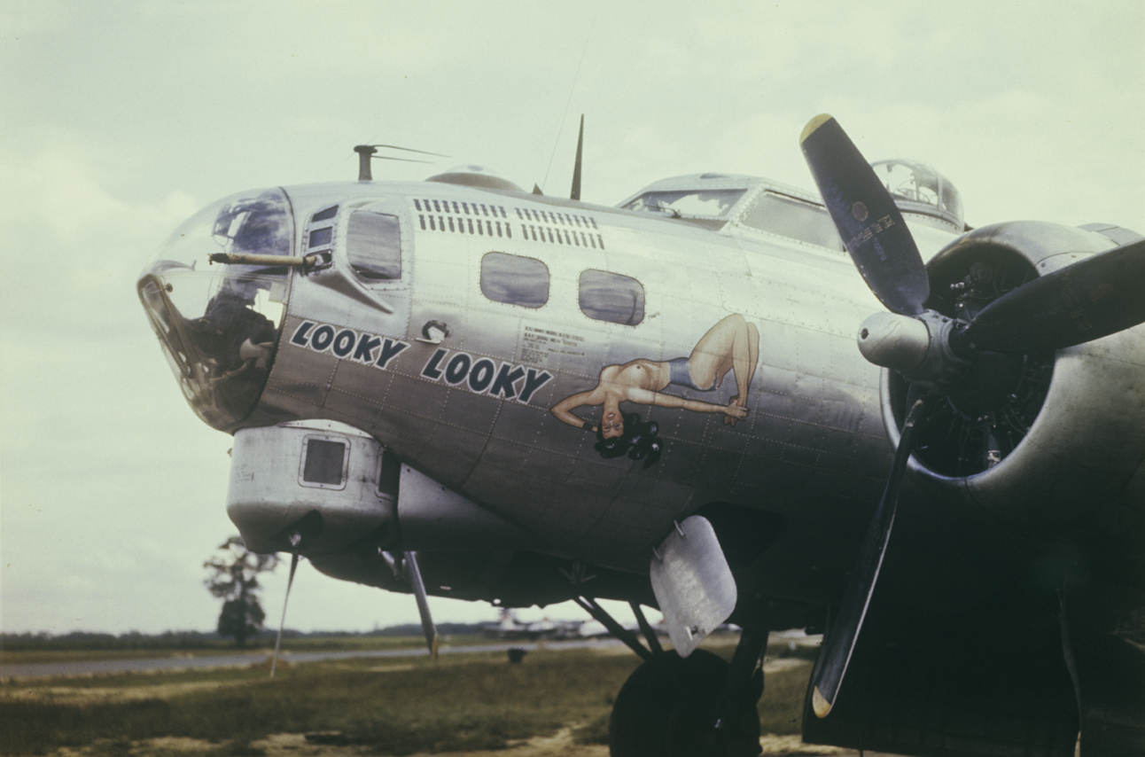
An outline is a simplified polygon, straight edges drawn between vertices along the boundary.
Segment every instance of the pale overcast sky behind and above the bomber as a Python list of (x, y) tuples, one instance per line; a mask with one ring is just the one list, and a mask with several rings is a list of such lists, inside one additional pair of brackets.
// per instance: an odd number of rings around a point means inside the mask
[[(3, 0), (3, 630), (214, 628), (231, 440), (183, 401), (135, 278), (214, 199), (356, 179), (355, 144), (452, 156), (376, 179), (477, 163), (566, 194), (585, 113), (583, 197), (615, 204), (704, 171), (811, 188), (798, 136), (830, 112), (869, 159), (945, 173), (971, 224), (1145, 232), (1145, 2), (995, 5)], [(302, 630), (417, 618), (305, 562), (290, 606)]]

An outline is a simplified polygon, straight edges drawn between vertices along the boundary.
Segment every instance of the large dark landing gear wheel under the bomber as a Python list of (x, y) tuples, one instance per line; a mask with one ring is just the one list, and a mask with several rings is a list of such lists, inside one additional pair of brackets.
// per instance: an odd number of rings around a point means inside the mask
[(718, 736), (720, 694), (728, 664), (704, 649), (687, 659), (656, 655), (624, 681), (608, 723), (611, 757), (755, 757), (759, 713), (755, 702), (736, 708), (736, 723)]

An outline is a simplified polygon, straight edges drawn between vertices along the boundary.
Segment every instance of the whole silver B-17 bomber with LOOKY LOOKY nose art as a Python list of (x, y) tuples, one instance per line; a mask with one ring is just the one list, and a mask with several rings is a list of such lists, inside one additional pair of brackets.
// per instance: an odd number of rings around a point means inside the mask
[[(792, 628), (824, 633), (806, 742), (1145, 754), (1145, 237), (972, 228), (828, 116), (799, 145), (818, 195), (605, 206), (579, 148), (564, 198), (376, 181), (393, 148), (358, 145), (357, 181), (208, 205), (137, 291), (234, 435), (230, 519), (292, 575), (413, 594), (432, 652), (429, 598), (576, 601), (643, 659), (614, 757), (758, 754)], [(697, 648), (725, 623), (731, 662)]]

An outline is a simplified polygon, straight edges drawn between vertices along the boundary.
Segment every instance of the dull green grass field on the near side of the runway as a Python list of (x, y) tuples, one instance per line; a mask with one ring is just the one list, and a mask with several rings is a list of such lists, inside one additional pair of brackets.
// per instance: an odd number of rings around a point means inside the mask
[[(729, 656), (733, 647), (711, 648)], [(163, 757), (132, 744), (188, 736), (214, 744), (212, 757), (256, 757), (251, 742), (269, 734), (331, 731), (340, 743), (408, 755), (504, 748), (569, 725), (578, 741), (601, 743), (613, 697), (638, 663), (609, 647), (539, 649), (515, 665), (502, 652), (308, 663), (274, 680), (253, 667), (6, 683), (0, 752)], [(765, 733), (798, 732), (808, 672), (802, 662), (767, 677)]]

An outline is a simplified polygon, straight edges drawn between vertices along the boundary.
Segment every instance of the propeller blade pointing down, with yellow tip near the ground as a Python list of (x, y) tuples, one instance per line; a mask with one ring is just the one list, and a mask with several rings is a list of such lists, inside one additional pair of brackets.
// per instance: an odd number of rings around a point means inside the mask
[[(919, 389), (911, 387), (910, 399), (914, 399)], [(886, 480), (886, 488), (883, 490), (883, 498), (875, 508), (867, 534), (863, 536), (862, 546), (859, 550), (859, 558), (855, 561), (851, 579), (847, 582), (846, 591), (843, 593), (843, 601), (839, 604), (839, 612), (831, 629), (819, 652), (819, 660), (815, 662), (815, 670), (812, 673), (812, 708), (820, 718), (827, 717), (831, 708), (835, 707), (835, 697), (843, 686), (843, 676), (847, 671), (851, 662), (851, 653), (854, 650), (855, 641), (859, 640), (859, 630), (862, 629), (863, 618), (867, 616), (867, 607), (870, 605), (871, 594), (875, 592), (875, 582), (878, 579), (879, 568), (883, 567), (883, 555), (886, 553), (886, 545), (891, 538), (891, 527), (894, 525), (894, 511), (899, 500), (899, 484), (907, 471), (907, 460), (914, 444), (915, 423), (922, 415), (925, 402), (915, 400), (907, 413), (907, 420), (902, 425), (902, 435), (899, 439), (899, 449), (894, 452), (894, 463), (891, 466), (891, 475)]]

